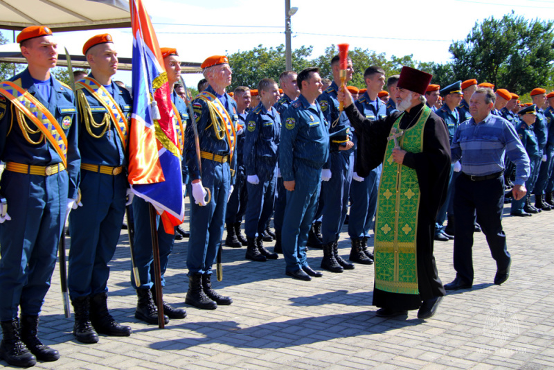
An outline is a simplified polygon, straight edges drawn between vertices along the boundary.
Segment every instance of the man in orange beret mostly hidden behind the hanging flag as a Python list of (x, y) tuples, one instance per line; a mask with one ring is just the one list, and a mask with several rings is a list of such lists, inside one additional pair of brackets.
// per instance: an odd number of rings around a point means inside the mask
[[(173, 89), (175, 82), (179, 81), (181, 75), (181, 61), (177, 49), (161, 48), (163, 56), (163, 64), (165, 64), (166, 72), (168, 73), (168, 83), (171, 89), (171, 103), (173, 106), (173, 114), (175, 114), (175, 129), (177, 139), (179, 140), (179, 150), (183, 152), (184, 145), (184, 129), (186, 121), (188, 121), (188, 113), (186, 103), (181, 99), (177, 92)], [(186, 179), (184, 178), (185, 182)], [(185, 186), (185, 184), (183, 184)], [(134, 317), (139, 320), (148, 322), (149, 324), (158, 324), (158, 310), (154, 306), (156, 299), (156, 291), (154, 287), (154, 256), (152, 254), (152, 231), (150, 230), (150, 204), (141, 197), (134, 197), (133, 204), (134, 215), (134, 263), (139, 272), (140, 286), (136, 286), (134, 277), (131, 274), (131, 283), (136, 289), (138, 303)], [(166, 233), (160, 216), (156, 216), (157, 236), (160, 258), (160, 273), (161, 286), (166, 286), (165, 273), (168, 268), (169, 255), (173, 250), (175, 243), (175, 232), (173, 234)], [(183, 319), (186, 317), (186, 311), (179, 308), (173, 308), (165, 301), (163, 302), (163, 314), (168, 319)], [(165, 319), (165, 318), (164, 318)], [(166, 320), (166, 324), (169, 320)]]

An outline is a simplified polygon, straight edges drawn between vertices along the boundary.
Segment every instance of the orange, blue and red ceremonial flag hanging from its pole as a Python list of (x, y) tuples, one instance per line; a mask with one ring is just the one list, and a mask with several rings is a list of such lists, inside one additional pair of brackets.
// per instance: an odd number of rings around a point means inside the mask
[(161, 214), (163, 227), (184, 220), (181, 154), (170, 86), (156, 33), (141, 0), (129, 0), (133, 31), (133, 112), (129, 135), (129, 184)]

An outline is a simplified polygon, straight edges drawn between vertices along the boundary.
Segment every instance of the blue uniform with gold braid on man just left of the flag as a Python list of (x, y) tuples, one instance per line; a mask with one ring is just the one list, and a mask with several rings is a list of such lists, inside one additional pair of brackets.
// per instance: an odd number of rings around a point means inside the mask
[[(113, 81), (106, 89), (129, 117), (129, 91)], [(108, 291), (108, 263), (116, 252), (128, 187), (125, 143), (118, 134), (118, 123), (87, 89), (78, 89), (78, 96), (83, 205), (69, 215), (68, 287), (72, 300)]]

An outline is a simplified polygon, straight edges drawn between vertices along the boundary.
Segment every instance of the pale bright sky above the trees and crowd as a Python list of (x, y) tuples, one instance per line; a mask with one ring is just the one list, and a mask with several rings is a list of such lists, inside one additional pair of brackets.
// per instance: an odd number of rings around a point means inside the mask
[[(175, 47), (181, 60), (202, 62), (211, 55), (249, 51), (258, 45), (285, 44), (285, 0), (143, 0), (160, 46)], [(298, 12), (291, 18), (292, 49), (313, 46), (312, 58), (331, 44), (350, 44), (377, 53), (413, 55), (422, 62), (445, 63), (449, 45), (465, 39), (477, 21), (501, 18), (512, 10), (527, 19), (554, 15), (550, 0), (290, 0)], [(554, 19), (554, 17), (551, 16)], [(110, 33), (120, 55), (131, 55), (129, 28), (57, 33), (70, 53), (80, 53), (84, 42)], [(12, 39), (12, 31), (3, 31)], [(16, 33), (17, 35), (17, 33)], [(63, 48), (61, 49), (63, 50)], [(357, 66), (354, 66), (355, 68)], [(368, 66), (359, 66), (365, 69)], [(185, 76), (196, 86), (201, 74)], [(131, 73), (114, 77), (131, 82)]]

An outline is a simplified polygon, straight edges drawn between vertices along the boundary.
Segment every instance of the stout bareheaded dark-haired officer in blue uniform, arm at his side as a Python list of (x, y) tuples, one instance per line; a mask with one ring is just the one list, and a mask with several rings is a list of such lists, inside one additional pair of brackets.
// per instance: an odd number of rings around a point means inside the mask
[(280, 136), (279, 168), (287, 189), (281, 243), (285, 273), (309, 281), (310, 276), (322, 276), (307, 264), (305, 246), (319, 198), (321, 168), (329, 157), (329, 130), (316, 101), (323, 86), (319, 68), (304, 69), (297, 81), (301, 95), (283, 113)]

